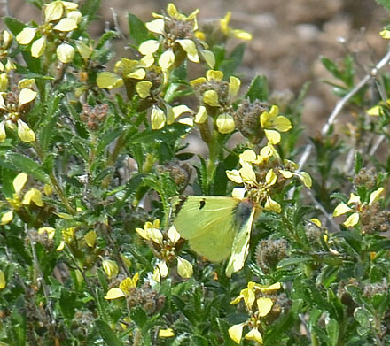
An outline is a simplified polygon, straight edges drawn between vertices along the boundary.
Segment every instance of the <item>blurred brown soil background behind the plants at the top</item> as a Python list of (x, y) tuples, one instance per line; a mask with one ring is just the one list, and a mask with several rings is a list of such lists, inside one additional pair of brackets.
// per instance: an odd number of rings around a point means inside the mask
[[(161, 12), (167, 4), (160, 0), (102, 0), (101, 19), (93, 23), (91, 35), (98, 37), (106, 27), (114, 28), (113, 11), (121, 32), (127, 35), (127, 12), (149, 21), (151, 12)], [(268, 77), (271, 90), (295, 96), (306, 81), (311, 81), (303, 120), (312, 130), (324, 125), (337, 101), (331, 87), (321, 81), (331, 80), (331, 75), (319, 57), (341, 61), (349, 52), (360, 63), (356, 74), (361, 78), (387, 49), (386, 40), (378, 32), (388, 15), (374, 0), (177, 0), (175, 4), (187, 14), (199, 8), (199, 22), (220, 19), (231, 11), (230, 27), (253, 35), (238, 71), (243, 92), (256, 74)], [(8, 0), (8, 11), (22, 21), (40, 20), (35, 6), (25, 0)], [(118, 50), (126, 44), (118, 40), (115, 50), (119, 58), (130, 58), (129, 51)]]

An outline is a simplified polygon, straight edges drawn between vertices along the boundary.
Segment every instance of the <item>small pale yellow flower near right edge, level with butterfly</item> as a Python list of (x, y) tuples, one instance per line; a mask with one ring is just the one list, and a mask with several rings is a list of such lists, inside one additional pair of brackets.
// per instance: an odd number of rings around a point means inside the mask
[(336, 208), (333, 211), (333, 217), (337, 218), (340, 215), (349, 214), (347, 219), (342, 223), (345, 227), (354, 227), (359, 223), (360, 220), (360, 211), (363, 210), (363, 208), (366, 205), (372, 205), (376, 202), (378, 202), (378, 199), (380, 198), (380, 195), (384, 191), (384, 188), (378, 188), (375, 191), (373, 191), (370, 194), (370, 200), (369, 203), (362, 203), (360, 196), (356, 196), (355, 194), (351, 193), (351, 196), (349, 197), (349, 201), (347, 204), (340, 203), (336, 206)]

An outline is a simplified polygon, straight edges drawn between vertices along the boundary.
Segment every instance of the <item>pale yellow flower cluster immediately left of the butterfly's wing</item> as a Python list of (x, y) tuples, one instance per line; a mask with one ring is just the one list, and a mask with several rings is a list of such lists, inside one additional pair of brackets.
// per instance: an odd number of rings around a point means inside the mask
[(192, 265), (189, 261), (176, 255), (176, 244), (180, 240), (180, 234), (174, 226), (168, 229), (168, 232), (162, 233), (159, 229), (160, 220), (146, 222), (144, 228), (136, 228), (136, 232), (143, 239), (149, 241), (152, 250), (159, 262), (153, 273), (153, 280), (160, 282), (161, 278), (168, 276), (168, 265), (175, 259), (177, 262), (177, 273), (184, 279), (191, 278)]

